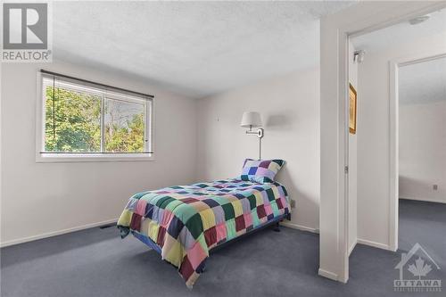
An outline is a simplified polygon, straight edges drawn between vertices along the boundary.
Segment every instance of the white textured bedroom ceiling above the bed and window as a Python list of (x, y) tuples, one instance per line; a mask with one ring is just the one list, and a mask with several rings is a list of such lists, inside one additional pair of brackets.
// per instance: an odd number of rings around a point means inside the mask
[(354, 2), (54, 2), (54, 59), (203, 97), (316, 66), (319, 18)]

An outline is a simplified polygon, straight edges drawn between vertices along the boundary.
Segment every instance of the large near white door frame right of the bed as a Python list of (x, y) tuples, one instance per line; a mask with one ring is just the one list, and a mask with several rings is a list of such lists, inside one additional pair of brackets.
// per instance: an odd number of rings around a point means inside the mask
[(318, 274), (349, 279), (348, 40), (446, 7), (433, 2), (366, 2), (320, 22), (320, 209)]

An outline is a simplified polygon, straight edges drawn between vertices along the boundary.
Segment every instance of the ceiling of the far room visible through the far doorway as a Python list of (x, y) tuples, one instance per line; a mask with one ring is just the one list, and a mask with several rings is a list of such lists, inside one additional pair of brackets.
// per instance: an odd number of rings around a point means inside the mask
[(446, 57), (401, 67), (400, 103), (446, 100)]

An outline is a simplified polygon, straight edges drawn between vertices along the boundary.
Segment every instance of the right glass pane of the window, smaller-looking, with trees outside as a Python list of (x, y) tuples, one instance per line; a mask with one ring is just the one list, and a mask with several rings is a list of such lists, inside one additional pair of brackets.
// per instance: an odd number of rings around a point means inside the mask
[(145, 152), (145, 104), (105, 99), (104, 151)]

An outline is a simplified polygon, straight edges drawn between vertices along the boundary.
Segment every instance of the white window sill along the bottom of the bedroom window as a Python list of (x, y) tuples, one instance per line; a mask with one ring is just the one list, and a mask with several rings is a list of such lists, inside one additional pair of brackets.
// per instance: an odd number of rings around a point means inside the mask
[(54, 162), (117, 162), (117, 161), (154, 161), (153, 154), (148, 153), (37, 153), (37, 163)]

